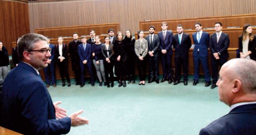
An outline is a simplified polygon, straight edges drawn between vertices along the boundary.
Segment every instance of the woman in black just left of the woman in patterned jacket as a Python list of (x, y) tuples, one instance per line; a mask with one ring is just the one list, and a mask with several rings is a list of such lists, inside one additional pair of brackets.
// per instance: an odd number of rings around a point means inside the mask
[(124, 46), (125, 50), (127, 51), (128, 59), (127, 59), (127, 65), (128, 65), (128, 84), (129, 83), (135, 83), (135, 59), (136, 54), (134, 52), (134, 44), (135, 39), (132, 38), (132, 32), (131, 30), (125, 31), (125, 37), (124, 37)]

